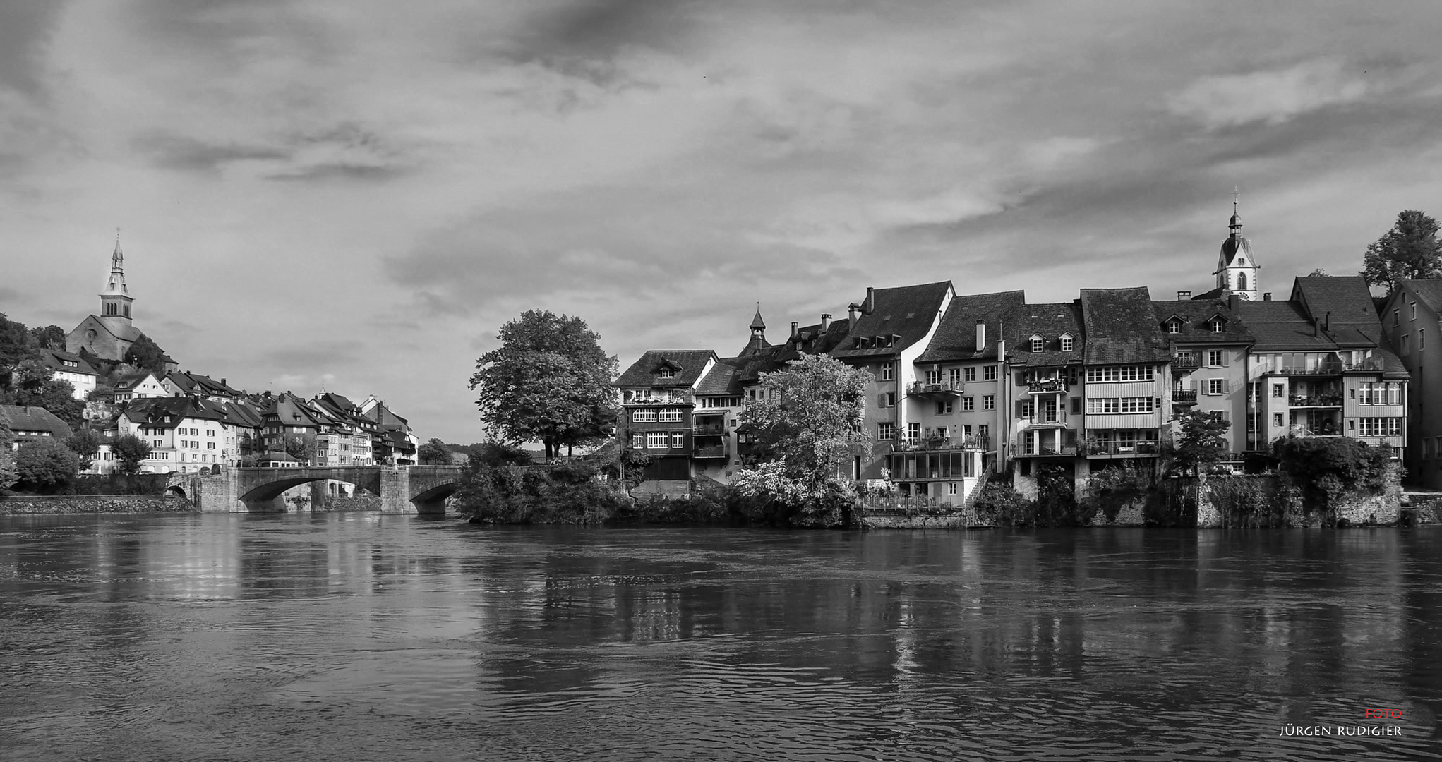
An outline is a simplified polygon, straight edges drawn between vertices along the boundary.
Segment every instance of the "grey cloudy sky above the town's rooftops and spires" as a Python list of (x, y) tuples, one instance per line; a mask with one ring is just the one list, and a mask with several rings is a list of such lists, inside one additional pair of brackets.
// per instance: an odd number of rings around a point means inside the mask
[(136, 326), (252, 392), (480, 441), (525, 310), (624, 369), (865, 288), (1213, 287), (1233, 189), (1285, 298), (1442, 215), (1442, 6), (0, 4), (0, 311)]

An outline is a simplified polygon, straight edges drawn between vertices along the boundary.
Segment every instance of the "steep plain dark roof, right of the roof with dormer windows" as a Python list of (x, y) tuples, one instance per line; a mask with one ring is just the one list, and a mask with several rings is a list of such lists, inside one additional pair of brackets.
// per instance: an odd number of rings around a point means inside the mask
[(1083, 288), (1086, 363), (1156, 363), (1169, 351), (1146, 287)]

